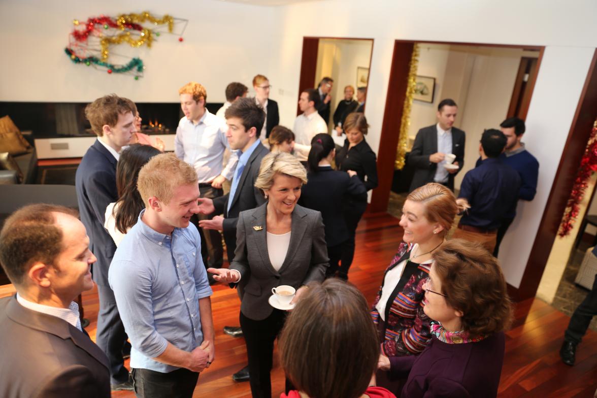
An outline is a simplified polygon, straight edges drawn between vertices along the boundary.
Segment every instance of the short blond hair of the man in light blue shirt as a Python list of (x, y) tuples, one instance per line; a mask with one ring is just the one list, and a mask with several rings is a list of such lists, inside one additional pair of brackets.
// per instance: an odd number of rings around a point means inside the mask
[(177, 187), (197, 184), (197, 181), (197, 173), (189, 163), (181, 161), (174, 153), (160, 153), (141, 168), (137, 189), (146, 206), (152, 196), (168, 204)]

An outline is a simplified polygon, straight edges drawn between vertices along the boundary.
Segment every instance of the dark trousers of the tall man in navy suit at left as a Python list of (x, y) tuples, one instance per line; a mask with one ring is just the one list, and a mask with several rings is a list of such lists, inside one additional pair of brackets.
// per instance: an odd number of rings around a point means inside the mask
[(100, 311), (97, 314), (96, 344), (104, 351), (110, 364), (110, 383), (128, 381), (128, 370), (124, 367), (122, 347), (127, 341), (127, 333), (120, 319), (116, 298), (110, 286), (97, 285)]

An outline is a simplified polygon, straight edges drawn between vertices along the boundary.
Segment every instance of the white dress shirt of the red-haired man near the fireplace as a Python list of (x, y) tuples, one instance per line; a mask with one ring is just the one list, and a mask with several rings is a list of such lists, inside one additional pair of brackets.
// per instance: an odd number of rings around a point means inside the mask
[(230, 159), (224, 167), (224, 150), (230, 149), (226, 139), (226, 124), (205, 109), (198, 124), (182, 118), (174, 137), (176, 156), (195, 168), (199, 184), (210, 183), (220, 174), (232, 180), (238, 156), (231, 151)]

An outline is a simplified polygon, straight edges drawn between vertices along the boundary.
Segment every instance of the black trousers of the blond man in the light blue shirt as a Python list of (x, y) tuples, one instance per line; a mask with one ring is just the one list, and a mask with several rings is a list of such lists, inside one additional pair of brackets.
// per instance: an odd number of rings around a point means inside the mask
[(199, 374), (184, 368), (169, 373), (131, 369), (131, 377), (138, 398), (192, 398)]

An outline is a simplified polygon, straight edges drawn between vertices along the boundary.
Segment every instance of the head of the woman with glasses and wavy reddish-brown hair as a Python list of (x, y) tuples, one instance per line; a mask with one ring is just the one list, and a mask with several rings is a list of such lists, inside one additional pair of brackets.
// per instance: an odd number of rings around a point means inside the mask
[(433, 320), (481, 337), (504, 331), (512, 304), (497, 259), (479, 243), (450, 239), (433, 252), (424, 311)]

